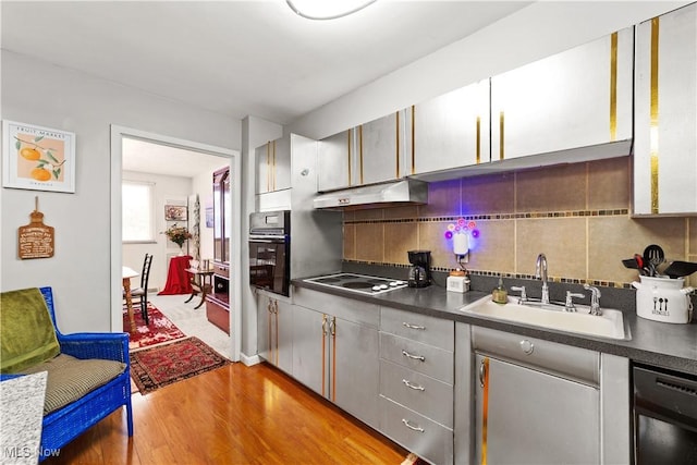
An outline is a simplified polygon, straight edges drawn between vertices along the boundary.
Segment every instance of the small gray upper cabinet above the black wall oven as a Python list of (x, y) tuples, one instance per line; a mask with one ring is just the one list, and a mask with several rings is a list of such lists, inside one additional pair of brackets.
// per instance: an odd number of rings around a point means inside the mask
[(255, 150), (256, 194), (291, 187), (291, 136), (270, 140)]

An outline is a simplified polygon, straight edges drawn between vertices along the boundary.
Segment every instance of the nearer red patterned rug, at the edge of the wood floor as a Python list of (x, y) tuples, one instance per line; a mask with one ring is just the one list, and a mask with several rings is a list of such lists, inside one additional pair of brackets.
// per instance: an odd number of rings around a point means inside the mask
[(131, 378), (142, 394), (231, 364), (198, 338), (131, 354)]

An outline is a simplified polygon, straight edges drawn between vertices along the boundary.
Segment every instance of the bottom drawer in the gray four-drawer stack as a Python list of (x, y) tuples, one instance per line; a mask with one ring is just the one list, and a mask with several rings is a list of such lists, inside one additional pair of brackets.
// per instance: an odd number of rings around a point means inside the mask
[(380, 431), (433, 464), (453, 463), (453, 431), (380, 396)]

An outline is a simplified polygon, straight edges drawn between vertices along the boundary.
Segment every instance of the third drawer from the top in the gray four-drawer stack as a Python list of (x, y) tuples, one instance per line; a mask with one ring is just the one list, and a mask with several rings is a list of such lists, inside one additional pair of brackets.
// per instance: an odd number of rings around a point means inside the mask
[(453, 427), (453, 387), (380, 360), (380, 394), (448, 428)]

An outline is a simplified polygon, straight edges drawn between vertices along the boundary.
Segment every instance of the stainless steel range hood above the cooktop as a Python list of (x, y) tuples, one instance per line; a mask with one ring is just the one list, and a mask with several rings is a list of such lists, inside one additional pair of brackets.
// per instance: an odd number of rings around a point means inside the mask
[(406, 179), (320, 194), (315, 208), (359, 210), (428, 204), (428, 183)]

